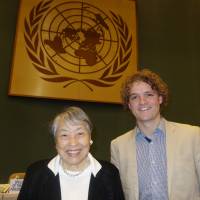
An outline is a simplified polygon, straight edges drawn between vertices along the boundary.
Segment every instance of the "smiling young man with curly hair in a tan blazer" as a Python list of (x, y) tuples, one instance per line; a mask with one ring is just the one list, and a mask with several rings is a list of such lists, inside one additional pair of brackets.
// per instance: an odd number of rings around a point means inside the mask
[(170, 122), (160, 110), (168, 86), (144, 69), (129, 77), (122, 100), (136, 127), (111, 142), (126, 200), (200, 200), (200, 127)]

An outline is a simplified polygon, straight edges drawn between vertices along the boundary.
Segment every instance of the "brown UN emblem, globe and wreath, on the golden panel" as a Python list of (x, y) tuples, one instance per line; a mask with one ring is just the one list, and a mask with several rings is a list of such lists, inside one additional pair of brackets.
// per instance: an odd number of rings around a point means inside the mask
[(126, 70), (132, 36), (120, 15), (83, 1), (41, 1), (24, 20), (26, 50), (45, 81), (113, 86)]

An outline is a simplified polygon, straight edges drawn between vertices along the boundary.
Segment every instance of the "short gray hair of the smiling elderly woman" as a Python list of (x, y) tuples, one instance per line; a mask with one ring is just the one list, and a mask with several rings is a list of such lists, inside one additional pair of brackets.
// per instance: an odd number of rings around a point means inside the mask
[(63, 112), (56, 115), (51, 124), (51, 133), (55, 137), (60, 121), (64, 121), (66, 124), (83, 125), (87, 129), (88, 133), (92, 133), (93, 125), (88, 115), (79, 107), (71, 106), (64, 109)]

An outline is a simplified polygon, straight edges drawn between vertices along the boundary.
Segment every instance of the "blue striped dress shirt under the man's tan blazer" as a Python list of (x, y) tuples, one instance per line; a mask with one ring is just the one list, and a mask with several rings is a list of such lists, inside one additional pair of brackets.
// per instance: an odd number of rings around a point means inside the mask
[(166, 134), (160, 124), (151, 137), (136, 134), (140, 200), (168, 200)]

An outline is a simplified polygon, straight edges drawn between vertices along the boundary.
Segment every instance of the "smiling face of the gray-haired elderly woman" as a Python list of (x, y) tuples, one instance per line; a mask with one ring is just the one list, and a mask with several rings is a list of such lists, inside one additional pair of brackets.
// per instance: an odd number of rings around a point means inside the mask
[(56, 150), (64, 168), (78, 170), (85, 164), (90, 150), (90, 133), (85, 124), (74, 125), (61, 120), (55, 135)]

